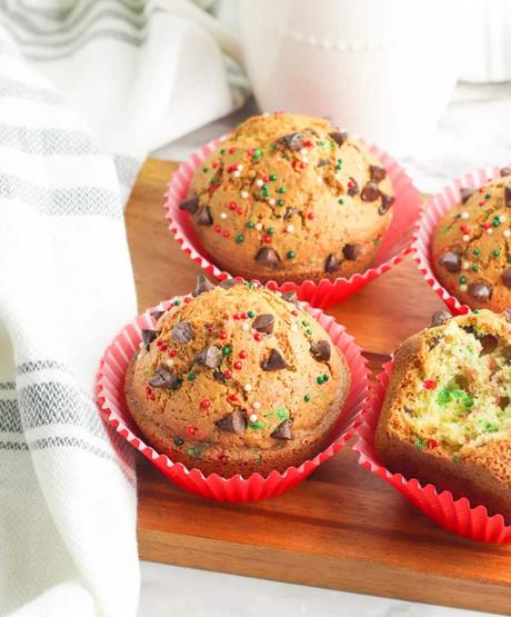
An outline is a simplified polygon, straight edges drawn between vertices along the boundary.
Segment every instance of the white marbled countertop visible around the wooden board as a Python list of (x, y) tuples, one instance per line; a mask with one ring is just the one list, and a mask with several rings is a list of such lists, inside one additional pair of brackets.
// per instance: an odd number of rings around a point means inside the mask
[[(227, 132), (249, 113), (253, 102), (160, 148), (152, 156), (180, 160), (201, 143)], [(439, 130), (428, 143), (399, 156), (419, 189), (434, 191), (450, 179), (488, 165), (511, 163), (511, 83), (460, 84)], [(382, 145), (384, 147), (384, 145)], [(259, 580), (142, 563), (139, 617), (469, 617), (470, 610), (403, 603), (299, 585)]]

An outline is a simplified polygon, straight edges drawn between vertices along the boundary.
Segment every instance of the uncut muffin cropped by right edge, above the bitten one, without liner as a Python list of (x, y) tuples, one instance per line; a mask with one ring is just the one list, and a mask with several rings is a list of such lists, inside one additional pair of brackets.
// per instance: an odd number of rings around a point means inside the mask
[(511, 170), (461, 201), (434, 231), (431, 258), (441, 285), (470, 308), (511, 307)]

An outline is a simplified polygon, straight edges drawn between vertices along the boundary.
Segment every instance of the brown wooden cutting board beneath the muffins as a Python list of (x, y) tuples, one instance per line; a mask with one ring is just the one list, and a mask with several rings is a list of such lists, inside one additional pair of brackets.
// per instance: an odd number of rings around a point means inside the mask
[[(198, 267), (167, 231), (174, 163), (148, 160), (127, 208), (140, 311), (193, 288)], [(408, 258), (331, 312), (378, 370), (440, 299)], [(511, 546), (463, 540), (357, 465), (350, 446), (285, 495), (221, 505), (139, 456), (140, 557), (231, 574), (511, 615)]]

